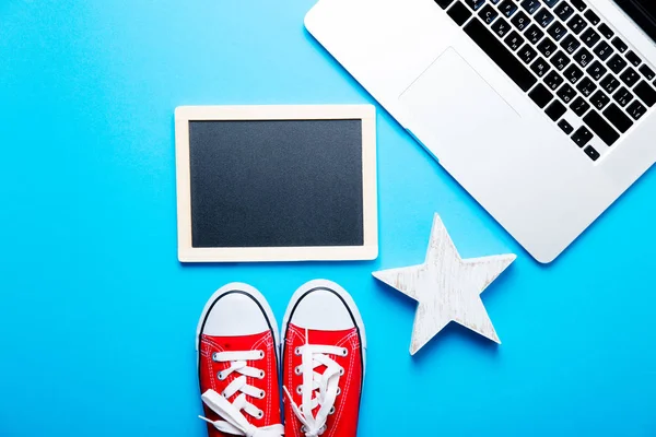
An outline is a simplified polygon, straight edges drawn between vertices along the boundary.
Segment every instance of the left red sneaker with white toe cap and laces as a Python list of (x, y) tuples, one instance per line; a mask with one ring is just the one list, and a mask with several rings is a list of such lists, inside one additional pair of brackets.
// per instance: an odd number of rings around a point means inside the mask
[(196, 349), (210, 437), (281, 437), (278, 331), (265, 297), (229, 284), (208, 302)]

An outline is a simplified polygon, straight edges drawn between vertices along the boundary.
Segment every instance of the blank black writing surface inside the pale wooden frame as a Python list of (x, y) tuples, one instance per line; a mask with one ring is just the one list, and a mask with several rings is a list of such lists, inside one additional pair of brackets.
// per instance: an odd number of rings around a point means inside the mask
[(189, 121), (195, 248), (362, 246), (362, 120)]

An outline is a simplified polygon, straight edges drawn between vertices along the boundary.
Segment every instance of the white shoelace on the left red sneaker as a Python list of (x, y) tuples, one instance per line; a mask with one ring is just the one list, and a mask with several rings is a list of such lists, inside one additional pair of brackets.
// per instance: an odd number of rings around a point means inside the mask
[[(214, 413), (219, 414), (223, 421), (210, 421), (207, 417), (199, 416), (203, 421), (214, 425), (216, 429), (222, 433), (232, 434), (235, 436), (245, 437), (282, 437), (284, 435), (284, 427), (281, 424), (263, 426), (258, 428), (257, 426), (248, 423), (242, 411), (246, 414), (261, 418), (263, 412), (257, 406), (248, 402), (247, 395), (263, 399), (267, 393), (265, 390), (260, 390), (257, 387), (253, 387), (246, 383), (246, 377), (253, 377), (257, 379), (265, 378), (265, 371), (255, 367), (248, 367), (248, 361), (258, 361), (265, 357), (262, 351), (245, 351), (245, 352), (216, 352), (212, 354), (212, 359), (216, 363), (230, 363), (231, 366), (216, 374), (216, 378), (224, 380), (233, 373), (237, 373), (241, 376), (235, 378), (231, 383), (227, 385), (223, 393), (219, 394), (214, 390), (208, 390), (202, 393), (202, 401), (208, 408)], [(241, 392), (233, 403), (227, 400), (230, 397)]]

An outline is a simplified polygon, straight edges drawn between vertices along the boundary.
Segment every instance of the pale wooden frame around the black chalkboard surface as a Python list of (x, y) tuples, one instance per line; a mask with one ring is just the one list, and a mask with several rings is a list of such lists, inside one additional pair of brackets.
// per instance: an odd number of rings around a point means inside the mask
[[(191, 240), (189, 121), (362, 120), (363, 246), (198, 248)], [(343, 261), (378, 256), (376, 110), (371, 105), (180, 106), (175, 109), (178, 259), (180, 262)]]

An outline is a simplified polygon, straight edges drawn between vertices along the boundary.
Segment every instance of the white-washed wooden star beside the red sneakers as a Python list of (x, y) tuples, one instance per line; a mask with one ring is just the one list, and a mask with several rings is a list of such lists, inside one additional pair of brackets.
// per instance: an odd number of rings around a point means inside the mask
[(418, 302), (410, 344), (414, 355), (452, 321), (501, 344), (480, 294), (516, 258), (511, 253), (464, 260), (435, 214), (423, 264), (373, 275)]

